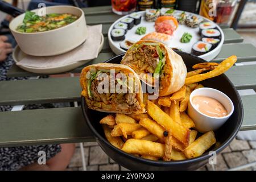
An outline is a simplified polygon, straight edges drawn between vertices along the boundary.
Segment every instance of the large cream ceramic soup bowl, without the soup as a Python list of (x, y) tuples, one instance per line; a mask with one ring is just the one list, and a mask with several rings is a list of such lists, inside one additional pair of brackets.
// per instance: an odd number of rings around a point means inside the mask
[[(37, 13), (39, 9), (32, 11)], [(79, 16), (79, 19), (55, 30), (23, 33), (16, 31), (16, 27), (22, 23), (25, 14), (17, 16), (9, 27), (24, 53), (32, 56), (60, 55), (76, 48), (88, 37), (84, 11), (81, 9), (73, 6), (49, 6), (46, 7), (46, 14), (49, 13), (70, 13)]]

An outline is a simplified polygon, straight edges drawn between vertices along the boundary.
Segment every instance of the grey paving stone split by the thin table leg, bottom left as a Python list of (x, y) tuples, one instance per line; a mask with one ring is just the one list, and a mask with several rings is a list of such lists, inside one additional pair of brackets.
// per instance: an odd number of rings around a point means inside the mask
[[(84, 148), (85, 162), (88, 164), (89, 148)], [(75, 154), (73, 155), (71, 162), (68, 165), (69, 167), (81, 167), (82, 158), (80, 148), (76, 148)]]

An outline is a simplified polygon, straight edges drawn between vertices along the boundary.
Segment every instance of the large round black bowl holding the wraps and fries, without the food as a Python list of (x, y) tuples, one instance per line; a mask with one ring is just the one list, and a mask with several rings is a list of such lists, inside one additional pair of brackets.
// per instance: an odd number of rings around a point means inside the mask
[[(184, 60), (188, 71), (192, 68), (192, 65), (197, 63), (205, 62), (203, 59), (200, 59), (197, 56), (190, 55), (188, 53), (176, 51)], [(117, 63), (121, 62), (123, 54), (113, 57), (106, 61), (106, 63)], [(239, 131), (242, 119), (243, 119), (243, 106), (241, 98), (234, 88), (234, 85), (224, 74), (210, 78), (208, 80), (201, 82), (204, 86), (220, 90), (225, 93), (234, 104), (234, 113), (228, 119), (228, 121), (217, 131), (215, 131), (217, 143), (211, 147), (205, 154), (187, 160), (163, 162), (163, 161), (153, 161), (138, 158), (134, 155), (127, 154), (115, 148), (105, 139), (104, 131), (100, 124), (100, 119), (102, 119), (108, 113), (102, 113), (99, 111), (88, 109), (86, 106), (85, 98), (82, 97), (82, 113), (84, 114), (85, 121), (92, 131), (94, 137), (96, 138), (98, 144), (100, 144), (102, 150), (110, 156), (115, 162), (120, 164), (123, 167), (131, 170), (195, 170), (205, 164), (207, 164), (210, 155), (209, 151), (216, 151), (217, 154), (224, 150), (225, 147), (236, 137), (237, 132)]]

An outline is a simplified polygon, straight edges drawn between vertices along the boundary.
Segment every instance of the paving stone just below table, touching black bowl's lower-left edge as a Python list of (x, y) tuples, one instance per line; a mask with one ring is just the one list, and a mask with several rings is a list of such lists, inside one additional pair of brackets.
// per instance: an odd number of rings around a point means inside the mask
[(90, 147), (89, 164), (108, 164), (109, 157), (99, 146)]

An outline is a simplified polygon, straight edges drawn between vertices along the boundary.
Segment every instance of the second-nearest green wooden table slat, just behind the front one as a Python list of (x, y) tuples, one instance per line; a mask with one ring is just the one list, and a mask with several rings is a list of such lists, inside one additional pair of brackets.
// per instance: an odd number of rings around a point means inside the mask
[[(226, 74), (237, 88), (254, 89), (255, 70), (256, 65), (235, 66)], [(1, 81), (0, 105), (79, 101), (80, 92), (79, 77)]]

